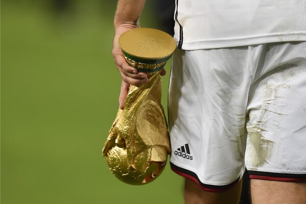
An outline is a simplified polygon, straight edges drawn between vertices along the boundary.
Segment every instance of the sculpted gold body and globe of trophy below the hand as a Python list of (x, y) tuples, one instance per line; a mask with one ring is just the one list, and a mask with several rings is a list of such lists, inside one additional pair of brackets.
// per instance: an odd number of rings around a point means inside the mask
[(130, 85), (124, 109), (118, 110), (102, 150), (109, 169), (127, 184), (154, 180), (166, 166), (171, 151), (159, 74), (148, 73), (147, 83)]

